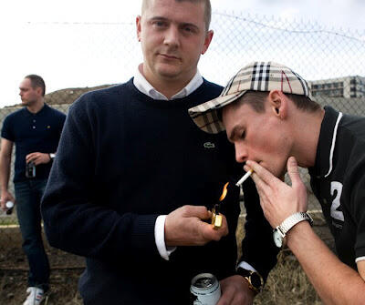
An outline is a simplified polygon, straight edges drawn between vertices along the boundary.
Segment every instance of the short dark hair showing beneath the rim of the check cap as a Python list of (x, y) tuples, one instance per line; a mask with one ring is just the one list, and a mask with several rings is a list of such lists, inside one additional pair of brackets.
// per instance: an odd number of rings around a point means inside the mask
[[(244, 104), (250, 105), (257, 113), (263, 113), (265, 111), (265, 102), (268, 97), (268, 91), (253, 91), (249, 90), (241, 98), (238, 98), (234, 103), (236, 106)], [(284, 93), (297, 107), (297, 109), (306, 112), (316, 112), (320, 109), (317, 102), (312, 101), (309, 97), (293, 95)]]

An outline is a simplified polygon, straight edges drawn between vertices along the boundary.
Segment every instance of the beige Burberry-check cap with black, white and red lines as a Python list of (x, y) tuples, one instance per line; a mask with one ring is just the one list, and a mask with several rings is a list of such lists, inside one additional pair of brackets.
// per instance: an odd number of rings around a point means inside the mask
[(235, 102), (248, 90), (281, 90), (310, 98), (307, 81), (287, 66), (274, 62), (252, 62), (231, 78), (219, 97), (190, 108), (189, 115), (203, 131), (216, 134), (225, 129), (216, 109)]

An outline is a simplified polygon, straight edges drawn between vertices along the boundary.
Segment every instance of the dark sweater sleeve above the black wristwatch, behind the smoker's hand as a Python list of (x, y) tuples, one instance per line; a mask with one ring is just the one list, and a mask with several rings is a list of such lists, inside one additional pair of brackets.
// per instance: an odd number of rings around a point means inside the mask
[(243, 184), (245, 199), (245, 239), (242, 241), (242, 258), (257, 270), (266, 281), (276, 264), (279, 249), (275, 246), (272, 228), (264, 217), (254, 181), (249, 178)]

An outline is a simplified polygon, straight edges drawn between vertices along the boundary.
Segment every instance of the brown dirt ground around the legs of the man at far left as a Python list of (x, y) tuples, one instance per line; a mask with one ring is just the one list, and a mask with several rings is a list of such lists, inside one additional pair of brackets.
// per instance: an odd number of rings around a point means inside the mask
[[(81, 304), (78, 295), (78, 277), (82, 273), (84, 259), (51, 248), (46, 242), (51, 266), (50, 290), (44, 304)], [(18, 228), (0, 229), (0, 304), (19, 305), (26, 298), (28, 266), (21, 248)]]

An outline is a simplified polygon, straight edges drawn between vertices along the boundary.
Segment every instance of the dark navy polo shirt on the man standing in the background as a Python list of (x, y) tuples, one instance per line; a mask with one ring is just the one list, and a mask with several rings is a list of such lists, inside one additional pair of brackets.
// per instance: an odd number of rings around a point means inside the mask
[[(26, 155), (54, 153), (66, 116), (45, 104), (36, 114), (26, 107), (5, 117), (1, 137), (16, 144), (14, 182), (26, 180)], [(36, 166), (36, 178), (47, 178), (52, 162)]]

